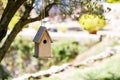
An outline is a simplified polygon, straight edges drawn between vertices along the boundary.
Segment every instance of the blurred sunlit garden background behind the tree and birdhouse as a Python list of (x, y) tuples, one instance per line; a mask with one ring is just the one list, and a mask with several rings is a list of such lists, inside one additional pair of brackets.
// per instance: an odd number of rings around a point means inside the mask
[[(31, 18), (40, 14), (46, 1), (54, 0), (35, 1)], [(88, 5), (85, 0), (82, 6), (74, 0), (59, 1), (62, 5), (53, 5), (48, 17), (26, 24), (17, 35), (0, 64), (0, 80), (120, 80), (120, 1), (90, 0)], [(0, 1), (0, 17), (6, 3)], [(13, 16), (7, 34), (22, 11)], [(33, 57), (33, 38), (40, 26), (53, 40), (54, 58)]]

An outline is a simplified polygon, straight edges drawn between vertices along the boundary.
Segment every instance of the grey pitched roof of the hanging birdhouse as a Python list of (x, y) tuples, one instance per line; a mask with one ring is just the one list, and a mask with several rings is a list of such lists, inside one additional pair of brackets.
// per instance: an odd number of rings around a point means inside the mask
[(51, 39), (51, 37), (50, 37), (50, 35), (49, 35), (46, 27), (43, 27), (43, 26), (40, 26), (37, 34), (35, 35), (35, 37), (34, 37), (34, 39), (33, 39), (33, 41), (36, 42), (36, 43), (39, 43), (39, 42), (40, 42), (40, 39), (42, 38), (42, 35), (43, 35), (44, 32), (47, 33), (47, 35), (48, 35), (48, 37), (49, 37), (49, 39), (50, 39), (50, 41), (51, 41), (51, 43), (52, 43), (52, 39)]

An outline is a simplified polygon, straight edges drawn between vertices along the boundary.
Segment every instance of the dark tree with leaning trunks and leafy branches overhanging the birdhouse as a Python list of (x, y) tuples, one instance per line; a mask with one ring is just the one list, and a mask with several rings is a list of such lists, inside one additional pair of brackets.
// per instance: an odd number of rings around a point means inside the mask
[[(3, 1), (3, 0), (2, 0)], [(30, 13), (33, 8), (35, 8), (35, 1), (37, 0), (4, 0), (7, 4), (4, 8), (4, 12), (2, 14), (0, 20), (0, 42), (2, 42), (3, 38), (7, 36), (8, 25), (10, 26), (14, 24), (14, 27), (9, 34), (9, 36), (5, 39), (3, 45), (0, 48), (0, 61), (4, 58), (4, 54), (7, 53), (10, 45), (14, 41), (16, 35), (22, 30), (22, 28), (31, 22), (38, 21), (43, 19), (44, 17), (49, 16), (49, 10), (53, 5), (60, 5), (61, 10), (66, 13), (72, 13), (72, 11), (76, 8), (84, 8), (84, 12), (97, 13), (102, 14), (103, 8), (100, 4), (101, 0), (41, 0), (45, 5), (36, 18), (30, 16)], [(63, 2), (66, 1), (66, 4)], [(19, 10), (24, 7), (22, 11), (22, 15), (20, 15), (20, 19), (18, 22), (12, 21), (12, 18), (17, 20), (16, 17), (13, 17)], [(45, 12), (45, 13), (44, 13)], [(44, 17), (43, 16), (44, 13)], [(79, 14), (80, 15), (80, 14)], [(4, 27), (3, 27), (4, 26)]]

